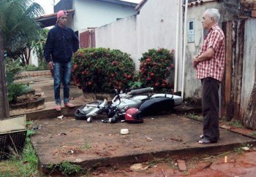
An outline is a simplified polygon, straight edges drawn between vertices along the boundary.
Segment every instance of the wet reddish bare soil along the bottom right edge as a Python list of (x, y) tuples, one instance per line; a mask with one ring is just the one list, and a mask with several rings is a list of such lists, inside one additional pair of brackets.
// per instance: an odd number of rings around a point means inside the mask
[[(225, 156), (227, 162), (225, 162)], [(147, 170), (134, 172), (131, 165), (102, 167), (89, 176), (255, 176), (256, 152), (227, 152), (215, 156), (187, 157), (187, 170), (178, 170), (176, 159), (155, 160), (143, 163)]]

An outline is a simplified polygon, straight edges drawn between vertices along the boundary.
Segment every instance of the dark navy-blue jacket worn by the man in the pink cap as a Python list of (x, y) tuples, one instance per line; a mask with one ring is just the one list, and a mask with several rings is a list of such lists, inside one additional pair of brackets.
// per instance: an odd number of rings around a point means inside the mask
[(71, 28), (61, 28), (59, 25), (51, 28), (45, 44), (45, 60), (53, 62), (69, 62), (73, 52), (79, 47), (78, 36)]

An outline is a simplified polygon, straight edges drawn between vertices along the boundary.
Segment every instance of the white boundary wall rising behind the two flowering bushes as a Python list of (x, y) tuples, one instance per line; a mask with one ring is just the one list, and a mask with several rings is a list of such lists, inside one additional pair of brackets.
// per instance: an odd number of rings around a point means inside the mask
[[(140, 9), (140, 14), (96, 28), (96, 47), (109, 47), (131, 54), (138, 70), (143, 52), (152, 48), (176, 48), (177, 9), (176, 1), (147, 1)], [(177, 53), (181, 68), (182, 28), (179, 32), (180, 46)], [(181, 69), (178, 70), (181, 72)], [(178, 78), (181, 79), (181, 76)]]

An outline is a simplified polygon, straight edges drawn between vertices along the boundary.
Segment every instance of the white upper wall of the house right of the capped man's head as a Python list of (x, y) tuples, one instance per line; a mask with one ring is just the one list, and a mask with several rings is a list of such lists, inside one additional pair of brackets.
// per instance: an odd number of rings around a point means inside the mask
[(75, 0), (74, 31), (98, 27), (136, 13), (135, 7), (105, 1)]

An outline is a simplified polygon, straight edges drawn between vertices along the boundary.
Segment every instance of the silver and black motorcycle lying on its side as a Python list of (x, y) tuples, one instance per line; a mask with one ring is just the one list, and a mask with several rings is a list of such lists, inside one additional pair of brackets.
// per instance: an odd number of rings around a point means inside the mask
[(107, 100), (87, 103), (75, 111), (75, 119), (86, 119), (87, 122), (91, 122), (93, 117), (105, 113), (108, 121), (102, 121), (114, 123), (124, 118), (128, 109), (136, 108), (138, 113), (135, 115), (135, 120), (141, 122), (143, 116), (169, 111), (182, 103), (182, 98), (178, 95), (153, 93), (153, 91), (152, 87), (131, 90), (129, 93), (118, 93), (116, 90), (116, 95), (110, 104)]

